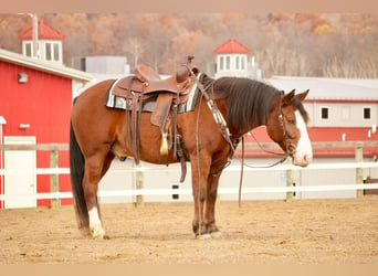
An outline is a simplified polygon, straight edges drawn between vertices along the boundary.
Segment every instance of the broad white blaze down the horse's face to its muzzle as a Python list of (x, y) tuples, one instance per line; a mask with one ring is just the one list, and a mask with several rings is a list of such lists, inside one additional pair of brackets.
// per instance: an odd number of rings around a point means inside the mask
[(296, 152), (294, 155), (294, 164), (307, 166), (313, 159), (313, 147), (307, 134), (306, 124), (298, 110), (295, 110), (296, 127), (301, 131), (301, 138), (298, 145), (296, 146)]

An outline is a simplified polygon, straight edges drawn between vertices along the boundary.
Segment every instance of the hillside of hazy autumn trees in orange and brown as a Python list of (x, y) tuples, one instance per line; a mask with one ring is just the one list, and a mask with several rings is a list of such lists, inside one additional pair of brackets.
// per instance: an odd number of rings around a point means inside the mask
[[(64, 33), (64, 63), (124, 55), (170, 74), (193, 54), (211, 72), (213, 50), (235, 38), (271, 75), (377, 77), (378, 14), (365, 13), (46, 13)], [(28, 15), (0, 13), (0, 47), (21, 52)]]

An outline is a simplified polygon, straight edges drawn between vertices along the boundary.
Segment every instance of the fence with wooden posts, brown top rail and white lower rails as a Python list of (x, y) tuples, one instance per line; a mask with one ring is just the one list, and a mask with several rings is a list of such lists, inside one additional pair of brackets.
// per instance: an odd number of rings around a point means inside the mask
[[(264, 142), (261, 144), (264, 148), (277, 148), (276, 144)], [(363, 181), (363, 169), (364, 168), (378, 168), (378, 162), (363, 162), (363, 147), (378, 147), (378, 141), (332, 141), (332, 142), (313, 142), (314, 148), (350, 148), (356, 149), (356, 162), (344, 162), (344, 163), (312, 163), (306, 168), (300, 168), (292, 164), (280, 164), (274, 168), (244, 168), (244, 171), (286, 171), (291, 173), (293, 170), (329, 170), (329, 169), (356, 169), (356, 183), (343, 183), (343, 184), (323, 184), (323, 185), (311, 185), (311, 187), (293, 187), (287, 184), (286, 187), (259, 187), (259, 188), (243, 188), (242, 193), (277, 193), (286, 192), (287, 198), (294, 192), (311, 192), (311, 191), (347, 191), (347, 190), (371, 190), (378, 189), (378, 183), (364, 183)], [(259, 148), (255, 144), (249, 144), (248, 148)], [(28, 197), (40, 199), (51, 199), (52, 206), (59, 204), (59, 199), (72, 199), (71, 192), (60, 192), (57, 184), (59, 174), (70, 174), (70, 168), (57, 168), (57, 151), (69, 150), (67, 144), (45, 144), (45, 145), (0, 145), (0, 150), (45, 150), (50, 151), (50, 164), (51, 168), (38, 168), (35, 170), (4, 170), (0, 168), (0, 177), (8, 174), (20, 174), (20, 173), (35, 173), (35, 174), (50, 174), (51, 176), (51, 192), (49, 193), (36, 193), (34, 195), (6, 195), (0, 194), (0, 201), (3, 202), (8, 198), (12, 197)], [(148, 167), (141, 166), (136, 168), (125, 168), (122, 170), (113, 171), (130, 171), (130, 172), (146, 172), (151, 170), (161, 170), (164, 167)], [(165, 168), (169, 170), (169, 168)], [(240, 166), (233, 164), (225, 168), (225, 171), (239, 171)], [(2, 181), (3, 183), (3, 181)], [(2, 187), (3, 191), (3, 187)], [(219, 188), (220, 194), (237, 194), (238, 188)], [(120, 191), (99, 191), (98, 197), (125, 197), (125, 195), (169, 195), (169, 194), (191, 194), (191, 189), (133, 189), (133, 190), (120, 190)], [(361, 194), (361, 193), (359, 193)]]

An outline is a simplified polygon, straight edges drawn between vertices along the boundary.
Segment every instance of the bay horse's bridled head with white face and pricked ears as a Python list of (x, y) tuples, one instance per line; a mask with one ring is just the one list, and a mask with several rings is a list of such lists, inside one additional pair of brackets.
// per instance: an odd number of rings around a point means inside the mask
[(307, 135), (308, 115), (302, 105), (308, 91), (283, 95), (273, 104), (266, 123), (269, 136), (293, 158), (293, 163), (306, 167), (313, 159), (313, 149)]

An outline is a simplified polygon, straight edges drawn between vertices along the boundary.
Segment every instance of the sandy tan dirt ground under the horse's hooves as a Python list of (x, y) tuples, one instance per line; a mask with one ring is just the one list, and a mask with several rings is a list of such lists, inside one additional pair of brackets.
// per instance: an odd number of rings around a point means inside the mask
[(188, 203), (103, 204), (109, 240), (82, 236), (72, 206), (0, 210), (0, 264), (374, 264), (378, 195), (221, 201), (222, 237), (195, 240)]

